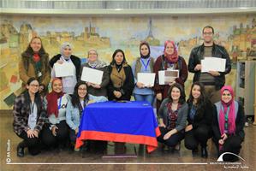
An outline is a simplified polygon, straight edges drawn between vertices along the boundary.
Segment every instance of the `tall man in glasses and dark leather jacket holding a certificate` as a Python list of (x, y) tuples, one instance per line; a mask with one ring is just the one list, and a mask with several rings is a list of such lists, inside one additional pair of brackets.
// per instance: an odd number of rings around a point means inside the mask
[(227, 50), (213, 42), (214, 29), (203, 28), (204, 44), (193, 48), (189, 56), (188, 71), (193, 73), (193, 82), (205, 85), (206, 95), (211, 103), (220, 100), (220, 89), (225, 84), (225, 74), (231, 70), (231, 62)]

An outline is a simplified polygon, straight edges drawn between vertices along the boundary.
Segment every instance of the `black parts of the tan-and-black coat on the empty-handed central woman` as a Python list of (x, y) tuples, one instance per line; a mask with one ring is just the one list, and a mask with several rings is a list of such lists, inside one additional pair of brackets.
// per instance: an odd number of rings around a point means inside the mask
[[(109, 74), (112, 73), (112, 67), (111, 64), (108, 66), (109, 68)], [(109, 100), (130, 100), (133, 91), (134, 91), (134, 74), (132, 71), (132, 68), (128, 65), (123, 67), (124, 73), (126, 76), (126, 79), (124, 80), (124, 83), (122, 87), (116, 88), (114, 87), (111, 79), (110, 79), (110, 84), (108, 85), (108, 98)], [(114, 91), (121, 91), (122, 92), (122, 97), (116, 98), (115, 95), (113, 94)]]

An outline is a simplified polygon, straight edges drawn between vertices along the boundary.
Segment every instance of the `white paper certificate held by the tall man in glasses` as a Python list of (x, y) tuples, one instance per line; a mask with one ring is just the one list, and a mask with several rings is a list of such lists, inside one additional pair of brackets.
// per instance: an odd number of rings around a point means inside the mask
[(201, 60), (202, 69), (201, 72), (219, 71), (224, 72), (226, 69), (226, 59), (219, 57), (205, 57)]

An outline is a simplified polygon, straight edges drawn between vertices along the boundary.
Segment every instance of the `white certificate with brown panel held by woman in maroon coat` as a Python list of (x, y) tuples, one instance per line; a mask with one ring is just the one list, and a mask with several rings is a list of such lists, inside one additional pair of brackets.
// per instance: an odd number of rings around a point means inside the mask
[(180, 71), (178, 69), (158, 71), (159, 85), (169, 85), (176, 78), (179, 78), (179, 73)]

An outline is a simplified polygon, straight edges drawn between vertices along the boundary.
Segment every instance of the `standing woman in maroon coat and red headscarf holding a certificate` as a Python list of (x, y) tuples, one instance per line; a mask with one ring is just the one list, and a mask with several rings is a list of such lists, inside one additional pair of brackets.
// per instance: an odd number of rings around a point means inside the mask
[[(159, 75), (159, 71), (168, 71)], [(164, 54), (158, 56), (154, 65), (154, 73), (156, 74), (156, 81), (154, 91), (157, 97), (157, 110), (160, 107), (163, 99), (168, 96), (167, 92), (170, 85), (179, 83), (184, 87), (184, 83), (188, 78), (187, 64), (182, 56), (178, 56), (175, 43), (167, 40), (164, 43)], [(166, 76), (169, 74), (170, 76)], [(164, 81), (161, 81), (164, 80)]]

